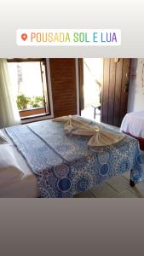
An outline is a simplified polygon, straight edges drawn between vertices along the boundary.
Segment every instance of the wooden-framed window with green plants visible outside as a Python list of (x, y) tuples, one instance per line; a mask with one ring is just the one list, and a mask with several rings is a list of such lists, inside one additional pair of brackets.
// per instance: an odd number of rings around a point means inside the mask
[(45, 59), (9, 59), (9, 75), (21, 119), (50, 114)]

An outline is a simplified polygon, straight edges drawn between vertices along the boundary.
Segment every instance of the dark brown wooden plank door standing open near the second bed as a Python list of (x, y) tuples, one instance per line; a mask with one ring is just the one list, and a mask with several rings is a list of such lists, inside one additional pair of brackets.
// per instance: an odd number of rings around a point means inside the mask
[(130, 59), (104, 59), (101, 122), (120, 126), (127, 113)]

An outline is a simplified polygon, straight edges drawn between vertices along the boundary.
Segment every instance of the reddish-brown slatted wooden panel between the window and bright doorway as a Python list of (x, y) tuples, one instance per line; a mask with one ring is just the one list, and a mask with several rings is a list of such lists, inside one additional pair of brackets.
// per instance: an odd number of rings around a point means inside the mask
[(49, 59), (54, 117), (77, 114), (75, 59)]

